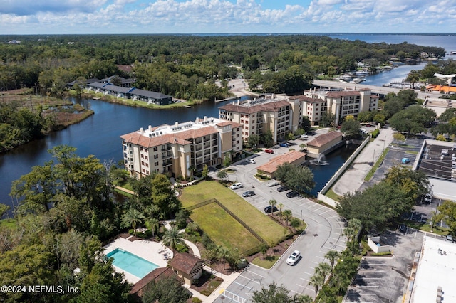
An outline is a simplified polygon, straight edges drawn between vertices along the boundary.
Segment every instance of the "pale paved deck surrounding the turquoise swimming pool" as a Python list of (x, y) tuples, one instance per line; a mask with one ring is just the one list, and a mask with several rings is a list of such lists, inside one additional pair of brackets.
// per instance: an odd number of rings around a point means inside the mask
[[(168, 260), (170, 259), (165, 260), (163, 257), (163, 254), (166, 252), (168, 252), (168, 255), (170, 258), (172, 258), (172, 250), (169, 248), (164, 248), (161, 242), (157, 243), (155, 241), (149, 240), (130, 241), (124, 238), (117, 238), (108, 245), (105, 245), (103, 248), (105, 249), (103, 252), (105, 255), (108, 255), (109, 252), (112, 252), (116, 248), (121, 248), (130, 253), (133, 253), (133, 255), (137, 255), (138, 257), (142, 257), (142, 259), (158, 265), (158, 267), (167, 267)], [(120, 270), (120, 268), (115, 266), (113, 267), (116, 272), (125, 274), (125, 279), (132, 284), (135, 284), (141, 280), (140, 277), (136, 277), (135, 275), (130, 274), (130, 272), (125, 272), (124, 270)]]

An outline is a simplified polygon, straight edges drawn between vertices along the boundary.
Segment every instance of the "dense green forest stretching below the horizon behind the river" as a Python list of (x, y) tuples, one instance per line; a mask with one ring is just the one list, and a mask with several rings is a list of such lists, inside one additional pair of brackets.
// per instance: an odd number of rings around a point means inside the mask
[[(226, 83), (239, 75), (266, 92), (298, 92), (318, 75), (332, 76), (398, 60), (442, 58), (445, 50), (409, 43), (346, 41), (326, 36), (79, 35), (3, 36), (1, 90), (34, 87), (58, 95), (76, 79), (122, 75), (116, 65), (134, 65), (136, 86), (186, 100), (227, 95)], [(9, 44), (11, 40), (21, 41)]]

